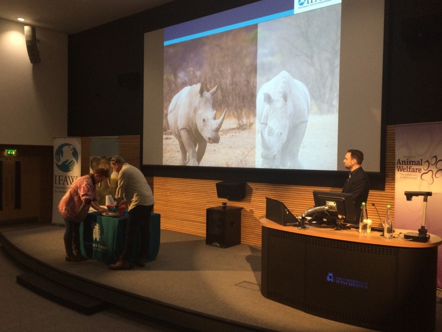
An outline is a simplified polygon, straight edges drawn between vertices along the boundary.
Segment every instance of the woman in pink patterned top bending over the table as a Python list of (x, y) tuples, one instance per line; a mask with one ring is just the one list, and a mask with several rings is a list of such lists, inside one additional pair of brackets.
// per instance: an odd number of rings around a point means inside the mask
[(80, 223), (86, 218), (89, 208), (105, 212), (97, 202), (96, 184), (109, 177), (105, 168), (97, 168), (92, 174), (79, 177), (69, 187), (59, 203), (59, 212), (65, 220), (66, 230), (63, 235), (66, 249), (66, 261), (80, 262), (87, 258), (81, 254)]

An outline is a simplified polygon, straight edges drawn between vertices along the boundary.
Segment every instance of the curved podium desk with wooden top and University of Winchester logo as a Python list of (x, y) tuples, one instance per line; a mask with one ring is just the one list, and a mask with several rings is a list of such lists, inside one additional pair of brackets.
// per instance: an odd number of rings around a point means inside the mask
[(439, 236), (420, 243), (375, 231), (260, 223), (265, 298), (373, 330), (434, 331)]

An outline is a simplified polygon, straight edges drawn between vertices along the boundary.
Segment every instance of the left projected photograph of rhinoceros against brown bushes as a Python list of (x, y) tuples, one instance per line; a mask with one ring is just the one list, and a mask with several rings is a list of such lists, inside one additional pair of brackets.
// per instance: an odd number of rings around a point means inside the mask
[(255, 167), (256, 29), (164, 49), (164, 165)]

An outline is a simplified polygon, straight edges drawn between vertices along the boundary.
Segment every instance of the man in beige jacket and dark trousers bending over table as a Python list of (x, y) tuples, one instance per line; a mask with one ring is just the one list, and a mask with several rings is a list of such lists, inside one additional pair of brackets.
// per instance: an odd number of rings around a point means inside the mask
[(144, 267), (145, 257), (149, 250), (150, 213), (155, 201), (152, 190), (144, 174), (136, 167), (129, 165), (121, 156), (111, 158), (111, 167), (118, 172), (118, 187), (115, 194), (115, 206), (128, 205), (128, 220), (123, 252), (115, 264), (109, 265), (111, 270), (129, 270), (129, 257), (134, 250), (136, 231), (140, 228), (141, 244), (135, 265)]

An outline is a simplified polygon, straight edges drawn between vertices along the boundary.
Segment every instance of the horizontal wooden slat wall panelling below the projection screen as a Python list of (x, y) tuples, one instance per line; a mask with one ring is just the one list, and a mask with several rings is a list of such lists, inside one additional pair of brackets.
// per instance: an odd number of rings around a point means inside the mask
[[(86, 143), (87, 140), (87, 143)], [(130, 164), (140, 167), (140, 136), (120, 136), (120, 155)], [(87, 171), (83, 172), (83, 160)], [(89, 172), (88, 138), (82, 138), (82, 174)], [(371, 203), (375, 203), (381, 217), (385, 216), (386, 205), (392, 206), (394, 219), (395, 203), (395, 127), (388, 126), (385, 151), (385, 190), (370, 191), (368, 214), (373, 225), (380, 220)], [(198, 180), (172, 177), (147, 178), (155, 197), (154, 211), (161, 214), (161, 228), (205, 236), (206, 209), (219, 206), (224, 199), (216, 196), (217, 180)], [(293, 214), (300, 215), (312, 207), (313, 190), (340, 191), (340, 188), (280, 185), (268, 183), (247, 183), (246, 198), (241, 202), (227, 202), (241, 206), (241, 243), (261, 245), (259, 219), (265, 216), (265, 197), (284, 202)]]

